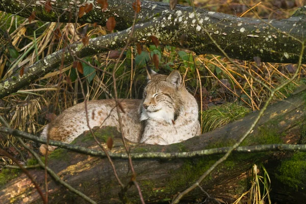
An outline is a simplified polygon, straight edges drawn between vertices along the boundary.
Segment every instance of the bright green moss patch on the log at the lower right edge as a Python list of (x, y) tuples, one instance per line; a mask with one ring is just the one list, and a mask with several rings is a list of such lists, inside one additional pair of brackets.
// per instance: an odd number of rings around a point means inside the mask
[(275, 173), (277, 180), (296, 191), (306, 188), (306, 152), (296, 152), (283, 161)]

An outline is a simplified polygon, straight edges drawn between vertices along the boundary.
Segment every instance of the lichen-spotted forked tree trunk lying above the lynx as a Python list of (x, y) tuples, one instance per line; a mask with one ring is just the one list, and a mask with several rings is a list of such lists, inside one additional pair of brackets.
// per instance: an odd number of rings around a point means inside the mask
[[(45, 57), (24, 69), (22, 77), (13, 77), (0, 82), (0, 98), (14, 93), (25, 85), (39, 79), (43, 74), (54, 70), (64, 62), (73, 61), (74, 56), (84, 58), (106, 50), (121, 48), (129, 38), (133, 24), (133, 0), (108, 1), (109, 9), (101, 11), (94, 1), (93, 9), (78, 18), (77, 5), (70, 1), (52, 1), (53, 11), (44, 10), (45, 1), (0, 0), (0, 10), (29, 17), (33, 11), (37, 19), (60, 22), (99, 22), (105, 24), (109, 16), (115, 16), (116, 29), (120, 32), (91, 39), (87, 46), (75, 43)], [(241, 18), (232, 15), (208, 12), (203, 9), (177, 5), (173, 11), (164, 3), (142, 1), (141, 11), (137, 14), (137, 24), (131, 37), (131, 45), (151, 44), (150, 36), (155, 35), (162, 45), (186, 48), (196, 54), (215, 54), (231, 58), (252, 60), (261, 58), (263, 62), (297, 63), (305, 41), (306, 17), (302, 7), (288, 19), (266, 20)], [(77, 8), (77, 9), (76, 9)], [(59, 15), (61, 14), (61, 15)], [(124, 30), (125, 29), (125, 30)], [(212, 41), (212, 39), (213, 41)], [(221, 51), (224, 51), (224, 53)], [(306, 52), (302, 63), (306, 62)]]

